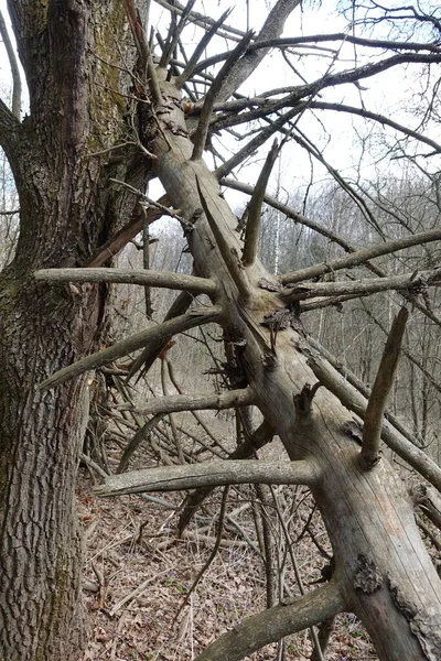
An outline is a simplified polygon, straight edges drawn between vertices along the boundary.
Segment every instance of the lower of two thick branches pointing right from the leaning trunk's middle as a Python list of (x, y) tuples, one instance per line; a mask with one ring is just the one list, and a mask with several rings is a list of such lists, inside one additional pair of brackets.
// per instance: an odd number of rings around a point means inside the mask
[(305, 299), (315, 299), (318, 296), (365, 296), (374, 292), (384, 292), (389, 290), (415, 290), (428, 285), (441, 284), (441, 270), (420, 271), (419, 273), (404, 273), (402, 275), (392, 275), (391, 278), (363, 278), (351, 282), (312, 282), (298, 284), (293, 288), (281, 290), (280, 295), (284, 301), (304, 301)]

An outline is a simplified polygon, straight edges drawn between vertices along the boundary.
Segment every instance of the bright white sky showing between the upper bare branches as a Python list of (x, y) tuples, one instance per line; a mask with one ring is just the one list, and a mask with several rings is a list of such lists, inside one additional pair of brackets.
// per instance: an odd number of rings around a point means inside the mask
[[(275, 0), (271, 0), (271, 6)], [(250, 0), (250, 28), (258, 30), (267, 15), (267, 4), (265, 0)], [(334, 10), (334, 2), (322, 2), (322, 7), (319, 4), (315, 9), (309, 8), (305, 11), (301, 11), (300, 8), (294, 10), (290, 19), (287, 21), (284, 35), (298, 36), (301, 34), (316, 34), (316, 33), (331, 33), (343, 31), (344, 20)], [(7, 18), (6, 0), (0, 0), (0, 9), (3, 15)], [(217, 1), (200, 1), (196, 3), (195, 9), (204, 12), (206, 8), (211, 9), (211, 15), (217, 18), (227, 8), (230, 7), (230, 0), (217, 0)], [(152, 2), (152, 23), (161, 26), (161, 33), (164, 35), (169, 23), (169, 12), (161, 9)], [(164, 25), (165, 21), (165, 25)], [(230, 25), (246, 28), (246, 2), (236, 2), (232, 15), (228, 19)], [(190, 28), (185, 41), (189, 45), (189, 52), (191, 53), (194, 40), (197, 40), (197, 32)], [(335, 44), (333, 44), (335, 45)], [(226, 45), (224, 40), (218, 40), (217, 44), (214, 45), (216, 48), (225, 50)], [(4, 48), (1, 48), (2, 56), (0, 56), (0, 82), (3, 86), (10, 85), (10, 72), (9, 64), (4, 54)], [(363, 56), (363, 55), (362, 55)], [(338, 68), (352, 68), (354, 66), (354, 50), (347, 44), (340, 53), (340, 61), (333, 64), (332, 71), (338, 71)], [(308, 82), (314, 80), (323, 69), (323, 62), (318, 58), (309, 57), (308, 66), (303, 69)], [(407, 109), (411, 110), (412, 94), (417, 91), (419, 86), (418, 79), (415, 77), (416, 69), (410, 69), (409, 74), (405, 74), (404, 69), (391, 69), (383, 73), (375, 78), (362, 82), (365, 90), (363, 97), (367, 109), (374, 112), (383, 112), (391, 116), (396, 121), (401, 121), (412, 127), (417, 127), (418, 121), (411, 113), (407, 112)], [(298, 85), (299, 78), (297, 78), (291, 69), (282, 61), (281, 56), (277, 52), (272, 52), (267, 56), (265, 63), (259, 67), (258, 72), (251, 76), (246, 84), (244, 91), (250, 94), (259, 94), (269, 88), (283, 87)], [(406, 101), (404, 102), (404, 97)], [(354, 85), (341, 86), (336, 89), (330, 89), (323, 91), (324, 100), (340, 101), (348, 105), (359, 105), (359, 91)], [(326, 160), (334, 165), (342, 174), (347, 176), (356, 176), (356, 166), (359, 163), (361, 158), (361, 142), (359, 138), (368, 139), (370, 145), (370, 152), (364, 154), (363, 174), (364, 177), (374, 176), (376, 170), (376, 160), (381, 151), (381, 133), (384, 131), (375, 126), (372, 121), (364, 121), (359, 118), (352, 116), (344, 116), (337, 112), (327, 112), (326, 116), (323, 111), (315, 113), (319, 121), (313, 119), (311, 112), (305, 113), (299, 123), (299, 127), (304, 132), (324, 149), (324, 155)], [(327, 136), (323, 134), (320, 121), (324, 121), (327, 129)], [(433, 129), (438, 131), (432, 133), (431, 138), (441, 139), (440, 127)], [(369, 134), (373, 134), (369, 137)], [(386, 130), (390, 134), (390, 130)], [(272, 142), (272, 140), (271, 140)], [(232, 143), (232, 149), (237, 149), (237, 143)], [(269, 144), (262, 149), (261, 159), (268, 151)], [(261, 161), (260, 159), (260, 161)], [(383, 167), (383, 165), (378, 165)], [(387, 165), (390, 167), (390, 165)], [(398, 164), (395, 165), (398, 171)], [(441, 169), (441, 163), (439, 163)], [(301, 152), (300, 149), (289, 149), (282, 156), (281, 169), (286, 172), (286, 178), (289, 184), (298, 186), (299, 184), (305, 185), (310, 178), (310, 163), (309, 159)], [(314, 165), (316, 176), (320, 181), (325, 175), (323, 169), (319, 165)], [(259, 167), (255, 164), (246, 166), (240, 172), (240, 178), (252, 183), (256, 180)]]

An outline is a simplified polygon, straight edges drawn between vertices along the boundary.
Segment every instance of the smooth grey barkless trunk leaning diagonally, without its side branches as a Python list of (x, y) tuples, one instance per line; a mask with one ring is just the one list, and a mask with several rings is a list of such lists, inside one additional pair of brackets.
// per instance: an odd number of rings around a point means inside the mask
[[(262, 327), (263, 316), (281, 306), (277, 294), (258, 286), (260, 278), (268, 282), (271, 275), (258, 263), (241, 270), (236, 217), (205, 164), (191, 160), (176, 90), (163, 83), (162, 93), (161, 118), (171, 148), (157, 138), (157, 173), (185, 218), (203, 202), (209, 224), (198, 219), (189, 236), (195, 272), (222, 283), (215, 302), (223, 305), (227, 335), (246, 340), (241, 364), (248, 382), (288, 455), (315, 462), (322, 473), (320, 487), (312, 490), (331, 538), (346, 607), (362, 619), (381, 660), (435, 661), (441, 649), (440, 579), (404, 485), (386, 459), (363, 470), (359, 445), (346, 431), (351, 414), (330, 392), (320, 388), (309, 401), (306, 384), (316, 380), (306, 364), (313, 351), (299, 323), (272, 340)], [(243, 284), (237, 288), (240, 273)], [(241, 658), (238, 648), (235, 653)]]

